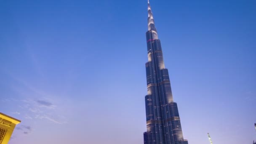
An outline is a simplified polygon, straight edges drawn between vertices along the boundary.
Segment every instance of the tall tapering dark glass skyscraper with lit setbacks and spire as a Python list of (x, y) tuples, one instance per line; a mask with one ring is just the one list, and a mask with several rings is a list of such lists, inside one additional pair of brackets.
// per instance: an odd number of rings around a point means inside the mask
[(144, 144), (188, 144), (188, 141), (183, 139), (178, 107), (173, 102), (168, 69), (165, 69), (149, 1), (146, 37), (148, 93), (145, 96), (147, 132), (144, 132)]

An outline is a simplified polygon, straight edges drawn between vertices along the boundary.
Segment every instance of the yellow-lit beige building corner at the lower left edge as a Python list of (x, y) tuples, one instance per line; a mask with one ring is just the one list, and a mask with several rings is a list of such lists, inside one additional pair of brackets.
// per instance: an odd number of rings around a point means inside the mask
[(20, 120), (0, 112), (0, 144), (8, 144), (15, 126), (19, 123)]

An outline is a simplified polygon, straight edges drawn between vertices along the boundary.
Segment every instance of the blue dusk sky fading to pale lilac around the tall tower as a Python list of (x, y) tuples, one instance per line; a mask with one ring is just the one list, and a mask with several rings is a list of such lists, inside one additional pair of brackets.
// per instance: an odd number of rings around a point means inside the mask
[[(189, 144), (256, 140), (256, 1), (151, 0)], [(147, 0), (0, 0), (9, 144), (143, 144)]]

